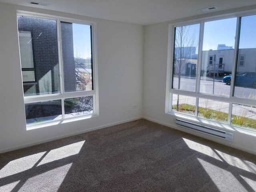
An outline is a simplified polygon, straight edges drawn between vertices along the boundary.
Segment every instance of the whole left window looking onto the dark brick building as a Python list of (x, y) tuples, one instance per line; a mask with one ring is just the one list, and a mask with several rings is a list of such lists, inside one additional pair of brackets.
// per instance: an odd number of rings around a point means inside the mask
[(17, 20), (27, 126), (97, 114), (94, 23)]

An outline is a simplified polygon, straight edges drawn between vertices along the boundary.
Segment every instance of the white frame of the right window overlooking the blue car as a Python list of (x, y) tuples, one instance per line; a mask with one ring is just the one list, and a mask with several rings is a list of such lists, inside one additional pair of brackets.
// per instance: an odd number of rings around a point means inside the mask
[[(166, 105), (165, 105), (165, 113), (170, 114), (179, 118), (183, 118), (184, 120), (192, 120), (195, 122), (198, 122), (199, 124), (207, 124), (207, 125), (213, 125), (215, 127), (219, 127), (220, 129), (224, 130), (233, 130), (233, 131), (246, 131), (249, 134), (256, 133), (256, 130), (246, 127), (240, 127), (236, 125), (231, 124), (231, 116), (232, 116), (232, 104), (242, 104), (247, 106), (254, 106), (256, 107), (255, 100), (248, 99), (248, 98), (236, 98), (233, 96), (234, 93), (234, 78), (231, 80), (230, 85), (230, 96), (220, 96), (220, 95), (210, 95), (210, 94), (204, 94), (199, 92), (200, 87), (200, 69), (201, 69), (201, 60), (202, 60), (202, 43), (203, 43), (203, 32), (204, 32), (204, 22), (214, 21), (214, 20), (221, 20), (221, 19), (227, 19), (227, 18), (237, 18), (236, 22), (236, 38), (235, 38), (235, 46), (234, 50), (236, 50), (234, 54), (234, 64), (232, 66), (232, 74), (235, 74), (236, 72), (236, 61), (238, 60), (238, 48), (237, 48), (237, 41), (238, 41), (238, 28), (239, 28), (239, 18), (242, 16), (250, 16), (255, 15), (256, 12), (240, 12), (240, 13), (233, 13), (229, 14), (228, 16), (214, 16), (211, 18), (200, 18), (198, 20), (193, 21), (186, 21), (186, 22), (180, 22), (180, 23), (174, 23), (169, 24), (169, 33), (168, 33), (168, 58), (167, 58), (167, 73), (166, 73)], [(199, 44), (198, 44), (198, 66), (196, 69), (196, 91), (190, 92), (186, 90), (178, 90), (172, 88), (172, 74), (173, 74), (173, 59), (174, 59), (174, 28), (179, 26), (185, 26), (185, 25), (193, 25), (200, 23), (200, 33), (199, 33)], [(213, 58), (214, 59), (214, 58)], [(209, 62), (210, 63), (210, 62)], [(172, 111), (172, 94), (179, 94), (184, 96), (190, 96), (196, 98), (196, 111), (195, 116), (184, 114), (181, 112), (175, 112)], [(208, 100), (215, 100), (220, 102), (228, 102), (229, 103), (229, 112), (228, 112), (228, 123), (222, 123), (217, 122), (212, 119), (206, 119), (201, 118), (197, 116), (198, 113), (198, 100), (199, 98), (202, 99), (208, 99)]]

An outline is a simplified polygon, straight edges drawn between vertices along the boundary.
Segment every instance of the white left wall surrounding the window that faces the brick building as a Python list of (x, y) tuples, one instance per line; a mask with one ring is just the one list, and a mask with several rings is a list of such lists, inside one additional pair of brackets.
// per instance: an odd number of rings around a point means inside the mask
[[(100, 116), (26, 130), (16, 10), (97, 22)], [(0, 3), (0, 152), (140, 118), (143, 30), (136, 24)]]

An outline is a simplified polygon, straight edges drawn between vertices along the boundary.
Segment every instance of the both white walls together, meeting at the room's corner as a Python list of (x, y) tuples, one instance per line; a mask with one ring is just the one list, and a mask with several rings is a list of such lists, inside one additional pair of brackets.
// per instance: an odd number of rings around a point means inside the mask
[[(251, 8), (256, 9), (256, 6)], [(100, 116), (26, 130), (16, 10), (97, 22)], [(242, 10), (230, 10), (236, 11)], [(0, 152), (144, 116), (161, 124), (256, 154), (255, 135), (237, 131), (234, 132), (234, 142), (226, 142), (179, 128), (175, 125), (175, 117), (165, 114), (168, 24), (170, 22), (143, 27), (0, 3)], [(137, 108), (133, 108), (134, 104)]]

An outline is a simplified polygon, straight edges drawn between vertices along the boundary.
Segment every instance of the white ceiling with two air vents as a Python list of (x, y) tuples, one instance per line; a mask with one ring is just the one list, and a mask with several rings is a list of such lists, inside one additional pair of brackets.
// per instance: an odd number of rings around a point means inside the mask
[(35, 0), (49, 6), (29, 4), (30, 0), (0, 0), (72, 14), (134, 24), (153, 24), (204, 14), (199, 9), (216, 6), (215, 12), (255, 5), (256, 0)]

